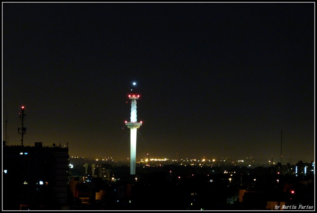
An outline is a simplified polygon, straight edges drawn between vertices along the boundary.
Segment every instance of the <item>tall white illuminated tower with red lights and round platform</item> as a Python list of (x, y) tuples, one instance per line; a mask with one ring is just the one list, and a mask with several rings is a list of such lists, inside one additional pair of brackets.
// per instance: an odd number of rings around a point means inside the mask
[[(135, 85), (135, 83), (133, 83)], [(139, 99), (139, 94), (129, 94), (129, 99), (131, 100), (131, 121), (126, 122), (126, 126), (130, 128), (130, 174), (135, 175), (135, 156), (137, 148), (137, 129), (142, 125), (142, 121), (137, 122), (137, 100)]]

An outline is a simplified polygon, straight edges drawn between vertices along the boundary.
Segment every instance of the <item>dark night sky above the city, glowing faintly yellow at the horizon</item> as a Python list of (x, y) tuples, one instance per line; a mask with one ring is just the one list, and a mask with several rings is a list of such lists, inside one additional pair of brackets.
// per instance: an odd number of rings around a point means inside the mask
[(314, 76), (314, 3), (3, 3), (9, 145), (24, 105), (24, 145), (129, 158), (136, 81), (137, 159), (308, 162)]

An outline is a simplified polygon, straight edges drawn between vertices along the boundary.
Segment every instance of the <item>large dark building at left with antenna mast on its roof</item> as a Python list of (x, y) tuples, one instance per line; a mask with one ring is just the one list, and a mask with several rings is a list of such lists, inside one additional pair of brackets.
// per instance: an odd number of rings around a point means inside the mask
[(61, 210), (67, 204), (68, 147), (3, 144), (3, 210)]

